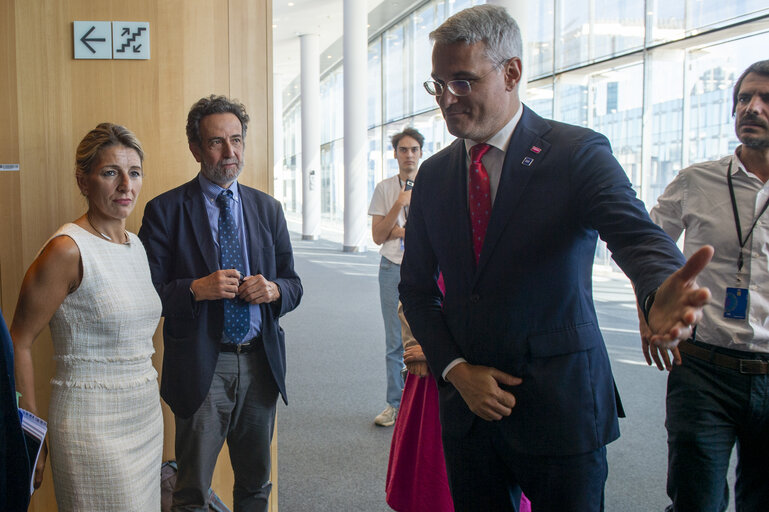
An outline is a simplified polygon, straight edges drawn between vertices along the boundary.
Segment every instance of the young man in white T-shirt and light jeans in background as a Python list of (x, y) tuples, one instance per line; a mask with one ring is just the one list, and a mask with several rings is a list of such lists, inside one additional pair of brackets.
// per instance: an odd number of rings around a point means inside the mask
[(403, 345), (398, 318), (398, 283), (401, 280), (403, 236), (411, 202), (411, 187), (419, 169), (425, 138), (417, 130), (406, 128), (393, 135), (390, 140), (395, 159), (398, 161), (398, 174), (377, 184), (368, 209), (374, 243), (382, 246), (379, 251), (382, 255), (379, 264), (379, 298), (385, 326), (387, 407), (374, 418), (374, 423), (382, 427), (395, 424), (403, 392)]

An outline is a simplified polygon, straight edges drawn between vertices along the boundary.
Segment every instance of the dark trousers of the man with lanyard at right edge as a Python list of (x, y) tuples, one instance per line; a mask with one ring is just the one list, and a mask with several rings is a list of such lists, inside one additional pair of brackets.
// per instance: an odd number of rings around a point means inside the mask
[[(696, 342), (741, 359), (737, 352)], [(678, 512), (723, 512), (726, 474), (737, 444), (735, 503), (740, 512), (769, 510), (769, 376), (744, 375), (681, 354), (668, 378), (668, 496)], [(765, 357), (764, 357), (765, 358)]]

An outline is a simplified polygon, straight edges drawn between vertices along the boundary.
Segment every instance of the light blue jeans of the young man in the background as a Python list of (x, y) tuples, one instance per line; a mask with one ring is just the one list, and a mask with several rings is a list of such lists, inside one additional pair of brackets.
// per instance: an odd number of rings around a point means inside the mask
[(379, 301), (385, 324), (385, 366), (387, 368), (387, 403), (396, 409), (401, 405), (403, 393), (403, 344), (401, 321), (398, 318), (398, 283), (401, 266), (384, 256), (379, 263)]

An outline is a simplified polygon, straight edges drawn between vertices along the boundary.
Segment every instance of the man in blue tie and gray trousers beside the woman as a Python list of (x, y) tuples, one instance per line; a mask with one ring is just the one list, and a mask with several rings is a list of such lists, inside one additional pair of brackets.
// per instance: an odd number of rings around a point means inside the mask
[(280, 203), (241, 185), (248, 115), (223, 96), (187, 117), (200, 174), (147, 204), (139, 237), (163, 301), (161, 396), (176, 419), (173, 510), (208, 510), (224, 440), (236, 511), (266, 511), (286, 355), (278, 319), (299, 305)]

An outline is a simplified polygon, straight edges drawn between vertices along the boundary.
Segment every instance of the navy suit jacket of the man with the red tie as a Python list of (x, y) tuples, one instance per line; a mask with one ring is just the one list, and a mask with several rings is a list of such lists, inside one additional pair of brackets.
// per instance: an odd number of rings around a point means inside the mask
[(684, 258), (649, 219), (603, 135), (523, 108), (477, 265), (464, 140), (422, 164), (406, 224), (401, 301), (438, 380), (446, 435), (464, 435), (477, 418), (440, 377), (463, 357), (523, 379), (510, 388), (512, 414), (499, 423), (516, 450), (585, 453), (619, 437), (592, 297), (598, 235), (638, 297)]

